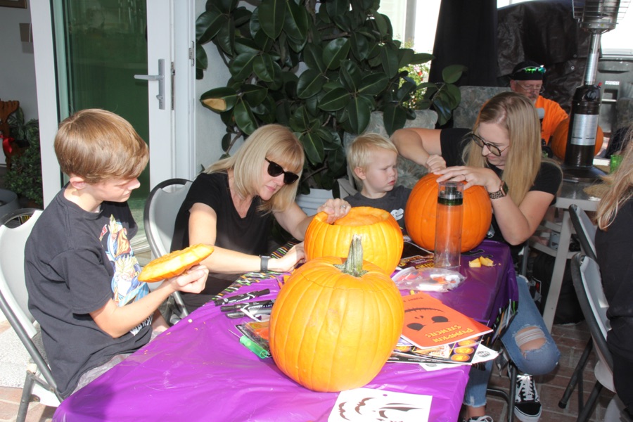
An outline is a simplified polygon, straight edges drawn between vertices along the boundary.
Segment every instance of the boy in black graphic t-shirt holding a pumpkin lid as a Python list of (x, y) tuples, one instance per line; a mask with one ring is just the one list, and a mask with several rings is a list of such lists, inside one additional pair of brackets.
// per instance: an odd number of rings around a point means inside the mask
[(149, 154), (129, 122), (79, 111), (61, 122), (55, 153), (70, 179), (33, 227), (25, 276), (53, 378), (68, 397), (164, 331), (158, 306), (176, 290), (198, 293), (208, 270), (194, 267), (151, 293), (139, 282), (127, 200)]

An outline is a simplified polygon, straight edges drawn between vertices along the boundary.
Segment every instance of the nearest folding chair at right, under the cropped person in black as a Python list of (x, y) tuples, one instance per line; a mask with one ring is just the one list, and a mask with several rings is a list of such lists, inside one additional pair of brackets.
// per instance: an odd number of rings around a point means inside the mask
[(577, 253), (572, 258), (571, 274), (578, 302), (580, 302), (582, 314), (584, 314), (584, 319), (589, 326), (589, 332), (592, 334), (594, 350), (598, 357), (598, 362), (594, 367), (596, 375), (594, 388), (587, 402), (583, 403), (582, 397), (579, 397), (577, 421), (585, 422), (591, 416), (602, 388), (606, 387), (615, 392), (613, 359), (606, 343), (607, 332), (610, 330), (609, 320), (606, 316), (608, 302), (604, 297), (600, 269), (596, 261), (582, 252)]

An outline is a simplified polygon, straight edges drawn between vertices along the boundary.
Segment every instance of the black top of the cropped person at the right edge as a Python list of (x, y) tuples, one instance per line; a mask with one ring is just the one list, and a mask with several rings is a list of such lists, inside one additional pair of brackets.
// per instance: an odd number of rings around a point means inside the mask
[(618, 354), (629, 357), (633, 350), (633, 199), (620, 207), (607, 231), (596, 231), (596, 253), (609, 304), (607, 341)]

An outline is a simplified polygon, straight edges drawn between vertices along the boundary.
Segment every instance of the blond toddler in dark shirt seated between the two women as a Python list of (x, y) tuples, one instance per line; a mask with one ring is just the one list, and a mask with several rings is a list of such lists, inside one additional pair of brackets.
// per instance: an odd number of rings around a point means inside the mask
[(388, 211), (404, 229), (404, 208), (411, 189), (395, 186), (398, 180), (398, 151), (379, 134), (358, 136), (347, 148), (347, 165), (361, 191), (347, 200), (352, 207), (374, 207)]

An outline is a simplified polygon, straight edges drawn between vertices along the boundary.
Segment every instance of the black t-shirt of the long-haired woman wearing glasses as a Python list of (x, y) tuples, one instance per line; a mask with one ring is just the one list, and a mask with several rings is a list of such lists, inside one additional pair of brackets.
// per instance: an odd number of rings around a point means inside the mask
[[(440, 148), (442, 149), (442, 158), (446, 161), (447, 167), (463, 165), (463, 150), (468, 145), (468, 142), (471, 142), (471, 139), (464, 137), (468, 132), (470, 132), (469, 129), (442, 129), (442, 132), (440, 132)], [(504, 171), (494, 165), (489, 166), (501, 178)], [(542, 161), (541, 168), (530, 191), (551, 193), (554, 195), (554, 200), (552, 200), (552, 204), (554, 204), (556, 202), (556, 193), (558, 193), (558, 188), (561, 186), (562, 181), (563, 174), (561, 174), (558, 167), (552, 162)], [(497, 224), (494, 214), (492, 215), (492, 226), (488, 233), (488, 238), (493, 241), (507, 243), (501, 235), (501, 229), (499, 229), (499, 224)], [(518, 261), (518, 252), (522, 248), (523, 245), (510, 245), (514, 262)]]

